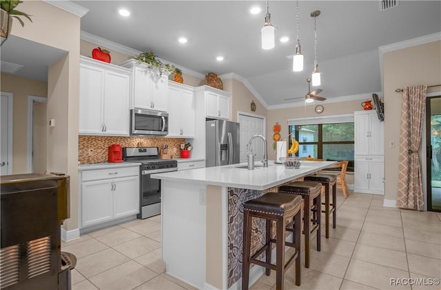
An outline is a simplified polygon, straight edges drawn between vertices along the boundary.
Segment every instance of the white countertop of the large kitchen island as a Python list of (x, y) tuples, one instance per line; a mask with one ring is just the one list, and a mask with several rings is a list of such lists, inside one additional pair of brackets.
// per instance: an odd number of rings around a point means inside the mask
[[(267, 168), (255, 167), (254, 170), (238, 168), (238, 166), (247, 166), (246, 163), (243, 163), (157, 173), (151, 177), (170, 181), (191, 181), (192, 183), (213, 186), (265, 190), (293, 179), (304, 177), (336, 163), (337, 161), (303, 161), (302, 166), (296, 169), (285, 168), (282, 164), (274, 164), (274, 160), (269, 160)], [(260, 161), (256, 161), (256, 165), (260, 164)]]

